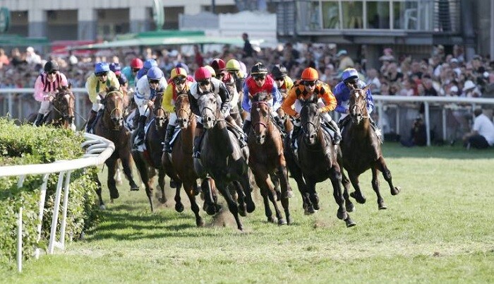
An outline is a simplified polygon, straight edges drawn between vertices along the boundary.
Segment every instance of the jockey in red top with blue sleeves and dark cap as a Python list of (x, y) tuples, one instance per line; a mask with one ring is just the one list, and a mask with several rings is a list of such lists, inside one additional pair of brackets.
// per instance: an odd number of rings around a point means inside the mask
[(251, 97), (260, 92), (266, 92), (272, 95), (272, 99), (268, 102), (272, 108), (271, 114), (279, 129), (282, 129), (282, 132), (284, 132), (283, 122), (276, 113), (282, 104), (282, 95), (279, 93), (275, 81), (270, 76), (267, 76), (266, 67), (260, 62), (252, 66), (251, 76), (243, 84), (242, 108), (247, 112), (247, 117), (243, 122), (243, 132), (248, 135), (248, 131), (251, 129)]

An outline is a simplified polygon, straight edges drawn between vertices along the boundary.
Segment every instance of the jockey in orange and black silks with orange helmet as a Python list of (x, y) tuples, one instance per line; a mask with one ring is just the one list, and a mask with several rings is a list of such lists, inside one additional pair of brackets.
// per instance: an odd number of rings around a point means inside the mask
[[(312, 95), (318, 96), (318, 106), (320, 116), (329, 129), (334, 132), (333, 144), (337, 145), (342, 140), (342, 135), (339, 131), (337, 123), (332, 120), (329, 112), (335, 110), (336, 98), (331, 92), (330, 85), (319, 81), (319, 73), (317, 70), (309, 67), (302, 71), (301, 80), (294, 83), (294, 87), (289, 90), (287, 98), (284, 100), (282, 109), (291, 117), (299, 117), (299, 113), (302, 109), (300, 100), (306, 100)], [(295, 110), (291, 108), (295, 105)], [(294, 123), (294, 130), (291, 134), (291, 143), (296, 148), (294, 143), (296, 136), (301, 129), (300, 125)]]

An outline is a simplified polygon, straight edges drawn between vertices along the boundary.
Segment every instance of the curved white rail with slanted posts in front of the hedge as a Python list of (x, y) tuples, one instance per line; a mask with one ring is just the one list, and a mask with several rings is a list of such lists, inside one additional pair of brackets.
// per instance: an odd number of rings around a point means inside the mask
[[(59, 160), (52, 162), (51, 164), (38, 164), (38, 165), (14, 165), (0, 167), (0, 177), (18, 177), (18, 187), (23, 186), (26, 175), (28, 174), (42, 174), (42, 186), (40, 193), (39, 202), (39, 223), (37, 225), (37, 241), (41, 239), (42, 230), (42, 220), (44, 211), (44, 199), (47, 194), (47, 182), (49, 174), (58, 173), (59, 180), (56, 185), (55, 201), (53, 208), (52, 217), (52, 227), (50, 230), (50, 238), (48, 245), (48, 253), (53, 254), (54, 248), (59, 249), (65, 248), (65, 229), (66, 229), (66, 218), (67, 218), (67, 208), (68, 208), (68, 192), (70, 191), (71, 184), (71, 173), (73, 170), (82, 169), (84, 167), (91, 167), (96, 165), (101, 165), (107, 158), (112, 155), (115, 150), (114, 143), (101, 136), (94, 134), (84, 134), (86, 141), (81, 145), (81, 147), (86, 148), (86, 153), (83, 158), (76, 160)], [(62, 204), (63, 215), (60, 226), (60, 239), (57, 241), (56, 238), (56, 224), (59, 220), (59, 208), (60, 201), (62, 198), (62, 188), (64, 190), (64, 203)], [(18, 271), (22, 271), (22, 247), (23, 247), (23, 208), (19, 208), (18, 213), (18, 239), (17, 239), (17, 267)], [(38, 258), (40, 255), (40, 249), (35, 250), (35, 257)]]

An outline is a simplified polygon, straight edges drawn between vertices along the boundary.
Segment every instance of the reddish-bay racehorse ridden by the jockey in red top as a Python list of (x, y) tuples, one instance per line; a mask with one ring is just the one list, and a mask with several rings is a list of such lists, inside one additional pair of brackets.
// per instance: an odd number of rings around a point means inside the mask
[[(251, 167), (255, 183), (260, 188), (263, 196), (265, 215), (267, 220), (274, 223), (269, 201), (275, 207), (278, 225), (292, 223), (289, 212), (288, 191), (291, 191), (288, 181), (287, 164), (283, 154), (283, 140), (278, 128), (272, 122), (271, 108), (267, 100), (270, 96), (266, 93), (258, 93), (253, 96), (251, 107), (252, 130), (248, 131), (248, 165)], [(287, 220), (283, 218), (277, 204), (277, 192), (273, 188), (269, 178), (277, 176), (281, 185), (281, 202)]]

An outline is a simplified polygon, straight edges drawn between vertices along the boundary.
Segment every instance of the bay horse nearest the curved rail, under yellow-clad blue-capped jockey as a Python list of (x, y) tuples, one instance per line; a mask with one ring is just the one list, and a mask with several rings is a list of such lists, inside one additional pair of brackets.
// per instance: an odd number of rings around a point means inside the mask
[[(115, 144), (114, 153), (104, 162), (108, 167), (107, 185), (110, 191), (110, 198), (113, 201), (113, 199), (119, 198), (119, 190), (116, 189), (114, 178), (116, 161), (118, 159), (122, 162), (123, 172), (129, 181), (131, 190), (139, 190), (139, 187), (133, 180), (132, 168), (130, 167), (131, 133), (123, 126), (123, 110), (125, 105), (122, 95), (118, 90), (111, 88), (102, 102), (104, 105), (103, 114), (97, 120), (94, 132), (96, 135), (107, 138)], [(100, 205), (103, 205), (101, 191), (98, 197), (100, 198)]]

